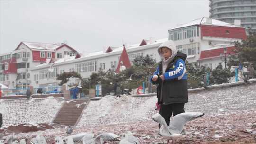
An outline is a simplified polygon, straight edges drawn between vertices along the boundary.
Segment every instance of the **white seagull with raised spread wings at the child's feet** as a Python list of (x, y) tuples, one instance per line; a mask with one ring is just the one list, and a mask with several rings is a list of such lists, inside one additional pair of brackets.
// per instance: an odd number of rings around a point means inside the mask
[(180, 134), (183, 129), (183, 126), (185, 126), (185, 124), (188, 121), (194, 120), (203, 115), (204, 115), (204, 113), (201, 113), (201, 112), (180, 113), (180, 114), (174, 116), (174, 119), (173, 119), (173, 121), (170, 121), (169, 126), (167, 126), (164, 117), (162, 117), (159, 113), (156, 113), (155, 115), (153, 115), (152, 119), (155, 122), (158, 122), (159, 124), (161, 124), (160, 134), (168, 139), (173, 140), (178, 137), (186, 136), (186, 135)]

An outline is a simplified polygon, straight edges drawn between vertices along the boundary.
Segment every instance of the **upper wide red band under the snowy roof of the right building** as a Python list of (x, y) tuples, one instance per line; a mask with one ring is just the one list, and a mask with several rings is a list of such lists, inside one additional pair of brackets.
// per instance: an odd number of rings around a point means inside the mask
[(246, 39), (245, 28), (243, 27), (221, 27), (212, 25), (201, 25), (201, 37), (221, 37)]

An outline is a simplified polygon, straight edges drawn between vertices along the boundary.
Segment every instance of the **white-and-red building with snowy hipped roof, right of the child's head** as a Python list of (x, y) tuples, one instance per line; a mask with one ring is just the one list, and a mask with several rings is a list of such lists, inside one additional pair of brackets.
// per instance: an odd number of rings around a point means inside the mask
[(169, 32), (178, 51), (187, 54), (189, 63), (214, 69), (219, 63), (225, 67), (224, 57), (234, 54), (234, 41), (246, 39), (245, 28), (211, 18), (199, 18), (174, 27)]

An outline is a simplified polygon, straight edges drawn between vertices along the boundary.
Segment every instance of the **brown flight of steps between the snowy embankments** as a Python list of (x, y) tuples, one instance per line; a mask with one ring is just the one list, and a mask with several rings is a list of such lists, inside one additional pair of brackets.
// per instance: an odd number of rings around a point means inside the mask
[(87, 107), (89, 101), (90, 99), (65, 100), (53, 122), (65, 126), (76, 126), (82, 116), (83, 109)]

